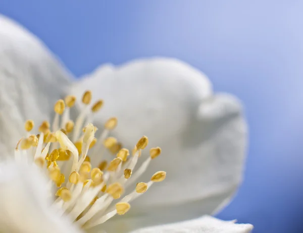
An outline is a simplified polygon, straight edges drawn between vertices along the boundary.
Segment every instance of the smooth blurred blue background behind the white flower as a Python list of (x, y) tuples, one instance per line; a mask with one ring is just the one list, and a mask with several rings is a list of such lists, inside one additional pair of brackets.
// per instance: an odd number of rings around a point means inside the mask
[(245, 182), (222, 219), (303, 232), (303, 1), (0, 0), (76, 75), (142, 56), (173, 56), (243, 100)]

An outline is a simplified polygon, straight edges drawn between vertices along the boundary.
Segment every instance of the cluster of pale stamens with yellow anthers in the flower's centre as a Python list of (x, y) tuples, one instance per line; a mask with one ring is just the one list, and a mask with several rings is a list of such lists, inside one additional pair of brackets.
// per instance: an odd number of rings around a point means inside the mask
[[(37, 135), (31, 134), (34, 122), (28, 120), (27, 135), (18, 142), (15, 159), (33, 161), (39, 166), (49, 177), (49, 197), (54, 200), (53, 207), (58, 214), (66, 214), (79, 227), (88, 229), (116, 214), (125, 214), (130, 209), (129, 202), (145, 193), (153, 183), (163, 181), (166, 172), (156, 172), (150, 181), (137, 183), (133, 192), (124, 195), (125, 189), (137, 181), (150, 161), (161, 154), (161, 148), (151, 148), (148, 158), (135, 170), (141, 151), (148, 144), (147, 137), (139, 139), (129, 156), (129, 150), (110, 137), (117, 126), (116, 118), (109, 119), (104, 131), (95, 138), (97, 128), (91, 122), (103, 101), (91, 105), (91, 92), (86, 91), (82, 97), (84, 108), (74, 123), (70, 119), (70, 108), (75, 102), (75, 96), (58, 100), (52, 128), (44, 121)], [(106, 150), (116, 155), (110, 162), (101, 160)], [(120, 199), (121, 196), (124, 197)]]

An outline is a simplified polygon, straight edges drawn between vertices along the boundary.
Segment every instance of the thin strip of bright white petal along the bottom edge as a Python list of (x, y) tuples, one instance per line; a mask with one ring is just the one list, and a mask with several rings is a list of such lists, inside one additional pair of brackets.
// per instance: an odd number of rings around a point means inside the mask
[(131, 233), (249, 233), (251, 224), (236, 224), (214, 217), (203, 216), (190, 221), (147, 227)]

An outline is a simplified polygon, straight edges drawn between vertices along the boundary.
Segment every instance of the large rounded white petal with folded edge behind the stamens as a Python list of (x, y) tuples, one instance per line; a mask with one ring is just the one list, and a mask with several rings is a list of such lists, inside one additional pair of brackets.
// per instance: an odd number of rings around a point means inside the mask
[(95, 123), (117, 116), (114, 136), (124, 146), (132, 148), (146, 135), (148, 148), (162, 148), (140, 181), (147, 182), (157, 170), (167, 171), (164, 182), (131, 203), (128, 215), (146, 216), (140, 221), (144, 226), (224, 207), (241, 182), (244, 162), (247, 136), (239, 101), (213, 95), (207, 77), (172, 59), (139, 60), (104, 73), (81, 80), (73, 93), (80, 97), (91, 89), (94, 99), (105, 100)]

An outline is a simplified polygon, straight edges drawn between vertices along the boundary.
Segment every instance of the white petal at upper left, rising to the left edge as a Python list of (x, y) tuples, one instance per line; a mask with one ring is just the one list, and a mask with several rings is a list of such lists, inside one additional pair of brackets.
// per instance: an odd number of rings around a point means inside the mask
[(12, 153), (24, 122), (49, 120), (71, 76), (34, 35), (0, 15), (0, 149)]

